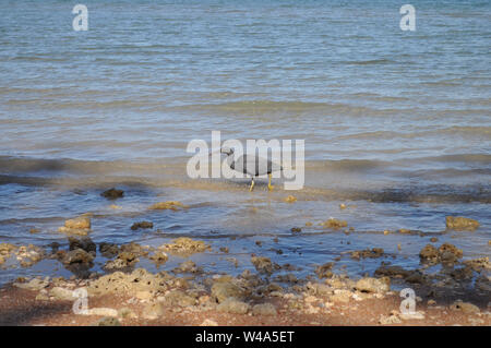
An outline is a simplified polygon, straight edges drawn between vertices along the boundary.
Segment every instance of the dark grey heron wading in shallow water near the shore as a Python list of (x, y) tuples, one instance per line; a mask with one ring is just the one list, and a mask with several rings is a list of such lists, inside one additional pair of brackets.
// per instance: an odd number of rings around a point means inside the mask
[(271, 184), (272, 172), (283, 170), (280, 165), (255, 155), (248, 156), (244, 154), (236, 159), (233, 156), (233, 148), (223, 147), (220, 153), (228, 156), (227, 164), (230, 169), (251, 176), (251, 187), (249, 188), (249, 191), (254, 189), (254, 177), (264, 176), (266, 173), (268, 176), (267, 189), (272, 191), (274, 188)]

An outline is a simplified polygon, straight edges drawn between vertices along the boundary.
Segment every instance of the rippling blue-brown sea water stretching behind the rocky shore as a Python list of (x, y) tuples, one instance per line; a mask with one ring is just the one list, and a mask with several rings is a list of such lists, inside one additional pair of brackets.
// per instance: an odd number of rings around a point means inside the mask
[[(446, 215), (464, 215), (481, 228), (441, 241), (490, 255), (488, 1), (414, 1), (416, 32), (385, 0), (83, 3), (87, 32), (72, 29), (71, 2), (0, 2), (0, 241), (65, 243), (57, 227), (94, 212), (97, 242), (205, 238), (230, 244), (237, 272), (251, 252), (311, 271), (380, 245), (412, 267), (428, 238), (375, 231), (440, 233)], [(247, 180), (189, 179), (187, 144), (209, 143), (212, 130), (304, 140), (304, 189), (259, 182), (250, 194)], [(122, 209), (99, 196), (112, 185), (127, 192)], [(291, 193), (298, 202), (285, 203)], [(146, 211), (167, 200), (191, 208)], [(324, 231), (328, 217), (356, 232)], [(161, 231), (131, 231), (141, 219)], [(255, 244), (274, 236), (282, 255)], [(195, 257), (230, 272), (219, 254)], [(343, 262), (362, 274), (380, 260)], [(0, 277), (19, 272), (31, 271)]]

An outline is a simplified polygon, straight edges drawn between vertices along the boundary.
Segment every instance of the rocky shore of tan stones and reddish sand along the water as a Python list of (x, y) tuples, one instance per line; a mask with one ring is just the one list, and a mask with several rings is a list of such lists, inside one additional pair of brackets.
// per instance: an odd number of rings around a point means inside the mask
[[(122, 193), (111, 191), (111, 199)], [(291, 199), (289, 201), (292, 201)], [(178, 212), (179, 202), (154, 204), (152, 209)], [(472, 231), (478, 223), (447, 218), (447, 228)], [(307, 227), (313, 226), (307, 223)], [(330, 218), (319, 223), (335, 233), (355, 233), (347, 223)], [(136, 221), (131, 230), (152, 229)], [(393, 265), (396, 257), (383, 248), (339, 253), (332, 262), (313, 266), (299, 276), (300, 267), (246, 251), (239, 274), (206, 271), (190, 256), (217, 254), (237, 268), (229, 248), (179, 237), (160, 245), (136, 242), (96, 243), (91, 238), (92, 215), (69, 219), (59, 229), (65, 242), (45, 247), (0, 243), (0, 266), (28, 268), (51, 260), (72, 276), (19, 277), (0, 289), (3, 325), (490, 325), (491, 283), (489, 257), (464, 260), (465, 251), (431, 238), (418, 255), (417, 268)], [(292, 233), (302, 233), (298, 228)], [(382, 236), (410, 236), (418, 231), (381, 231)], [(233, 239), (233, 238), (231, 238)], [(271, 243), (277, 243), (278, 237)], [(261, 241), (256, 247), (263, 248)], [(400, 245), (398, 245), (400, 249)], [(278, 249), (276, 254), (282, 254)], [(95, 260), (104, 264), (93, 271)], [(380, 262), (373, 274), (361, 277), (343, 272), (345, 257), (352, 262)], [(170, 261), (176, 266), (160, 269)], [(141, 262), (153, 264), (151, 272)], [(9, 265), (9, 266), (7, 266)], [(340, 269), (340, 271), (339, 271)], [(416, 312), (400, 308), (402, 288), (414, 289)], [(87, 295), (87, 309), (73, 312)]]

